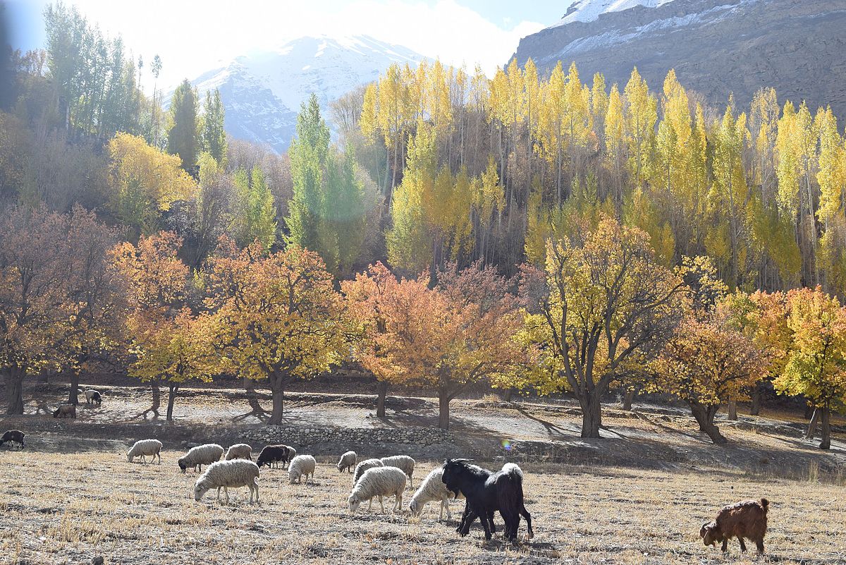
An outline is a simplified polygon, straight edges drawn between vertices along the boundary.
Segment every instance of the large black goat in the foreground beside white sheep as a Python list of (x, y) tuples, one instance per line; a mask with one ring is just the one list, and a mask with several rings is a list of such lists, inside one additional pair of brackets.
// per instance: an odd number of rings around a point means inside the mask
[(447, 459), (443, 464), (443, 483), (456, 496), (467, 499), (464, 516), (457, 531), (462, 537), (470, 532), (470, 524), (479, 518), (485, 529), (485, 539), (493, 531), (493, 513), (499, 511), (505, 522), (505, 539), (517, 539), (520, 515), (525, 518), (529, 537), (534, 536), (531, 514), (523, 502), (523, 471), (515, 464), (505, 464), (496, 473), (470, 464), (468, 459)]

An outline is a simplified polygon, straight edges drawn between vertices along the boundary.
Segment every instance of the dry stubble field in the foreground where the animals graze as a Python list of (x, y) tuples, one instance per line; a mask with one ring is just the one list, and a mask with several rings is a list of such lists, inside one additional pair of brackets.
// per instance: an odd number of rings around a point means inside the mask
[[(180, 453), (164, 451), (162, 465), (145, 466), (116, 449), (3, 451), (0, 562), (749, 562), (754, 556), (742, 557), (735, 540), (723, 559), (698, 532), (723, 504), (761, 496), (771, 501), (768, 559), (846, 562), (843, 487), (810, 480), (524, 463), (536, 536), (506, 546), (498, 535), (485, 542), (478, 522), (459, 538), (454, 521), (437, 521), (437, 504), (410, 517), (410, 490), (403, 513), (382, 515), (376, 504), (351, 515), (350, 475), (328, 458), (319, 458), (315, 485), (288, 485), (283, 469), (262, 469), (258, 505), (245, 488), (230, 491), (229, 506), (213, 491), (195, 502), (196, 474), (179, 473)], [(436, 464), (419, 462), (415, 485)], [(463, 507), (452, 503), (453, 513)], [(497, 516), (499, 534), (501, 526)]]

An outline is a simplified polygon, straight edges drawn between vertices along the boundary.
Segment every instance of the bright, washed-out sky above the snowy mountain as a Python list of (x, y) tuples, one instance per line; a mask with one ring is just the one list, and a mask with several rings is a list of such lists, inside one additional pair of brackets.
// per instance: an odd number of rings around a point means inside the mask
[[(43, 47), (47, 0), (6, 0), (13, 47)], [(301, 36), (367, 35), (489, 75), (569, 0), (65, 0), (137, 59), (162, 58), (159, 88)], [(146, 65), (149, 70), (149, 64)], [(151, 89), (147, 81), (146, 88)]]

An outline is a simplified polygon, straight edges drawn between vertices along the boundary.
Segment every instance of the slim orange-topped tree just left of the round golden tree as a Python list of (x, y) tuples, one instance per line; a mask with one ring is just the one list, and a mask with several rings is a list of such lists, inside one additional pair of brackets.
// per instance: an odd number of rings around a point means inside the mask
[[(158, 416), (161, 405), (160, 381), (173, 381), (173, 371), (167, 364), (148, 364), (151, 351), (162, 348), (156, 342), (159, 332), (176, 329), (176, 320), (183, 311), (189, 288), (190, 270), (179, 259), (182, 239), (175, 233), (161, 232), (141, 237), (138, 245), (129, 242), (119, 244), (112, 251), (112, 260), (118, 272), (124, 277), (128, 288), (130, 313), (127, 318), (126, 342), (129, 353), (135, 357), (130, 374), (152, 384), (152, 406), (147, 412)], [(167, 337), (162, 333), (161, 339)], [(140, 364), (140, 365), (139, 365)], [(140, 370), (141, 366), (145, 366)], [(162, 369), (153, 370), (153, 366)], [(181, 377), (177, 376), (177, 381)], [(170, 387), (168, 414), (173, 413), (175, 390)], [(170, 418), (168, 418), (170, 420)]]

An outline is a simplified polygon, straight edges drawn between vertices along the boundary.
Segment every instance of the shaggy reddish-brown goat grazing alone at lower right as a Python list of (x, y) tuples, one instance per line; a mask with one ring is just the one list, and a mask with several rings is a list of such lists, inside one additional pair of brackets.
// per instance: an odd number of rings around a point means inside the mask
[(723, 507), (717, 513), (717, 519), (702, 524), (699, 536), (706, 546), (717, 545), (722, 541), (722, 551), (728, 551), (728, 538), (736, 537), (740, 541), (740, 551), (746, 551), (743, 539), (754, 541), (758, 553), (764, 553), (764, 535), (766, 534), (766, 509), (770, 502), (761, 498), (744, 500), (737, 504)]

